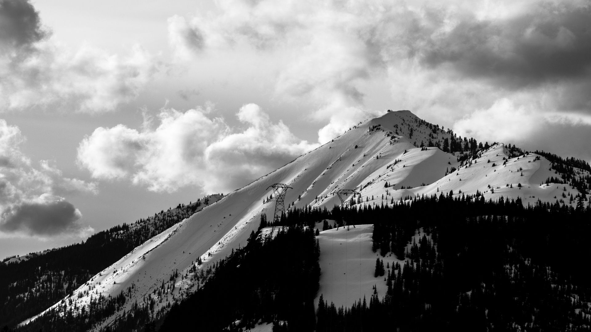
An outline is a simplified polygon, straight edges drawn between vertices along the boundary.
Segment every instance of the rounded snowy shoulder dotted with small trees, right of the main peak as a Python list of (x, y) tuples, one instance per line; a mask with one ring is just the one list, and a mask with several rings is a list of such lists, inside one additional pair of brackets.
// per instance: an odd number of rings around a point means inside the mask
[[(417, 154), (431, 156), (421, 159)], [(409, 167), (408, 164), (410, 163), (411, 168), (413, 165), (415, 165), (415, 169), (421, 168), (420, 172), (436, 175), (437, 172), (441, 172), (441, 163), (446, 161), (446, 155), (449, 154), (445, 154), (437, 148), (428, 148), (427, 151), (415, 148), (406, 155), (408, 157), (402, 157), (402, 161), (392, 167), (391, 171), (378, 174), (379, 182), (365, 188), (362, 191), (362, 196), (369, 196), (370, 203), (372, 203), (371, 196), (373, 195), (376, 198), (373, 203), (381, 204), (381, 195), (384, 194), (384, 204), (389, 204), (392, 198), (396, 201), (401, 197), (405, 199), (423, 194), (439, 195), (440, 193), (447, 194), (450, 191), (453, 191), (456, 196), (461, 196), (462, 194), (476, 194), (478, 190), (486, 200), (489, 198), (496, 200), (501, 196), (505, 198), (521, 197), (524, 206), (527, 206), (527, 204), (534, 204), (537, 200), (549, 202), (564, 200), (564, 203), (569, 204), (567, 198), (562, 197), (563, 193), (567, 197), (579, 194), (579, 191), (569, 184), (545, 184), (547, 178), (558, 176), (554, 170), (550, 169), (550, 162), (545, 158), (540, 158), (537, 154), (509, 158), (509, 154), (502, 144), (493, 145), (483, 151), (481, 157), (473, 160), (471, 165), (460, 167), (452, 157), (449, 160), (451, 164), (443, 165), (443, 167), (456, 167), (458, 168), (456, 171), (435, 181), (431, 180), (427, 182), (427, 185), (421, 186), (419, 184), (418, 187), (413, 186), (419, 182), (418, 179), (413, 178), (413, 174), (416, 172), (405, 170)], [(536, 157), (540, 160), (535, 160)], [(506, 164), (504, 165), (505, 160)], [(404, 165), (406, 167), (403, 167)], [(422, 178), (426, 178), (426, 176)], [(384, 187), (386, 181), (391, 184), (391, 187)], [(401, 189), (404, 185), (406, 188)], [(409, 185), (413, 188), (408, 189)]]

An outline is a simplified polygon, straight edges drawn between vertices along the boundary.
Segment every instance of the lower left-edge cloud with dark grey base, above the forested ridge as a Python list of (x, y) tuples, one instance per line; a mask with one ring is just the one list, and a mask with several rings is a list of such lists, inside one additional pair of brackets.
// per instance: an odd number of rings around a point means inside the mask
[(33, 167), (17, 126), (0, 119), (0, 236), (87, 235), (82, 214), (60, 195), (96, 193), (95, 183), (63, 177), (51, 161)]

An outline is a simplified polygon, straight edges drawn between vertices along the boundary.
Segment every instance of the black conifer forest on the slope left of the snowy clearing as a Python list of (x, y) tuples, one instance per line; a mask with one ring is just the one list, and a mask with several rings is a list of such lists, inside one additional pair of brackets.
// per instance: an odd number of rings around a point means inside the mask
[(258, 321), (273, 323), (274, 331), (313, 331), (319, 255), (309, 227), (282, 227), (264, 239), (253, 232), (203, 287), (173, 305), (160, 331), (242, 331)]

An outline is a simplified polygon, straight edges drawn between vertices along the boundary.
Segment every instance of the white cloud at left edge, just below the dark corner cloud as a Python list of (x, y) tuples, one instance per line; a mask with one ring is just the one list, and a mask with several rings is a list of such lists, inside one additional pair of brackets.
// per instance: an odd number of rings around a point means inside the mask
[(83, 45), (76, 51), (52, 40), (35, 44), (24, 60), (0, 57), (0, 109), (38, 106), (106, 112), (138, 96), (155, 71), (154, 58), (138, 45), (119, 57)]

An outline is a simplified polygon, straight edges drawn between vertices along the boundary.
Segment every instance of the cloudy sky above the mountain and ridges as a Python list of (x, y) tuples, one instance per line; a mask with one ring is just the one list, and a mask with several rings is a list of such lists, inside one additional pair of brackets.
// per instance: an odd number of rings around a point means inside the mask
[(229, 193), (387, 109), (591, 161), (591, 2), (0, 0), (0, 256)]

